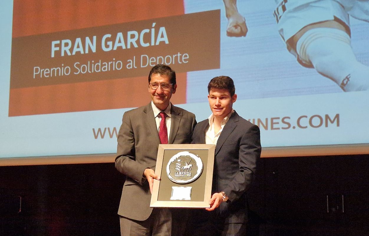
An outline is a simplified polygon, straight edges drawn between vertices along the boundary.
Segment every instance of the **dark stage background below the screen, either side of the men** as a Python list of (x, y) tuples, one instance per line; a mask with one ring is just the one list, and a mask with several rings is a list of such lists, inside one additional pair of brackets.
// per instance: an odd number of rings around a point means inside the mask
[[(261, 158), (249, 235), (368, 235), (368, 167), (369, 155)], [(123, 181), (114, 163), (0, 167), (0, 235), (118, 236)]]

